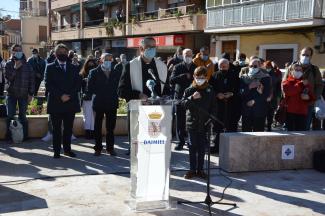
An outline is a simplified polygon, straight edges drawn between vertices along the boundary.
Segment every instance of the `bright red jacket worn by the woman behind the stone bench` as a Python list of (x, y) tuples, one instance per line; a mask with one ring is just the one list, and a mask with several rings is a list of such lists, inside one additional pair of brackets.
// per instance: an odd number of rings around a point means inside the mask
[[(292, 76), (289, 76), (287, 80), (283, 81), (282, 86), (285, 95), (284, 99), (288, 106), (287, 112), (307, 115), (310, 102), (315, 100), (312, 88), (309, 85), (305, 86), (301, 79), (295, 79)], [(309, 100), (301, 99), (301, 94), (306, 88), (310, 97)]]

